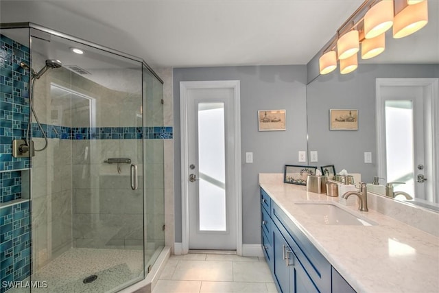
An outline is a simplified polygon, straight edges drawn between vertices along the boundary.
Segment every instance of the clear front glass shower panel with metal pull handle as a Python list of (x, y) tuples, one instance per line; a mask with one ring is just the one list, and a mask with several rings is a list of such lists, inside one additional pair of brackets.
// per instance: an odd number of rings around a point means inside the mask
[(33, 80), (32, 139), (47, 147), (32, 158), (32, 281), (117, 291), (145, 274), (142, 64), (32, 30), (32, 68), (55, 59)]

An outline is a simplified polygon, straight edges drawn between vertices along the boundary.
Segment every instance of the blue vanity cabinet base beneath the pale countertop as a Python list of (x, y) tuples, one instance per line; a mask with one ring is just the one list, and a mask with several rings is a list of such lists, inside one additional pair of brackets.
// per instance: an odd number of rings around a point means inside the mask
[(262, 188), (261, 219), (263, 252), (280, 292), (355, 292)]

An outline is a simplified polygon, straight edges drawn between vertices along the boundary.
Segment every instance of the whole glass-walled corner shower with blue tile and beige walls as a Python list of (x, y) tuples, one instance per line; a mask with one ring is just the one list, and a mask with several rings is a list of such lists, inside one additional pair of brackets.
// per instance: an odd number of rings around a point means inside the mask
[(163, 82), (32, 23), (0, 33), (1, 293), (145, 279), (165, 244)]

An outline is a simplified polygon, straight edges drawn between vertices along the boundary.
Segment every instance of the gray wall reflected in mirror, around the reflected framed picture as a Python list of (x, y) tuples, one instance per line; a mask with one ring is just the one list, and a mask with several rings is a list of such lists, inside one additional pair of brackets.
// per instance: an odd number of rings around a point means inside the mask
[[(318, 151), (318, 165), (335, 165), (335, 171), (361, 173), (372, 182), (377, 175), (375, 134), (376, 78), (438, 78), (439, 65), (366, 65), (348, 75), (333, 71), (307, 85), (309, 151)], [(329, 109), (358, 109), (358, 131), (329, 130)], [(372, 164), (364, 163), (372, 152)]]

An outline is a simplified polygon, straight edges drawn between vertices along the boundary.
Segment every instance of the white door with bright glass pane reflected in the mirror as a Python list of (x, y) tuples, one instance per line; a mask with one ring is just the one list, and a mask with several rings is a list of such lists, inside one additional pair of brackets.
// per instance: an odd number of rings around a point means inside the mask
[(394, 191), (436, 202), (434, 196), (434, 95), (423, 82), (381, 86), (380, 176), (396, 182)]

